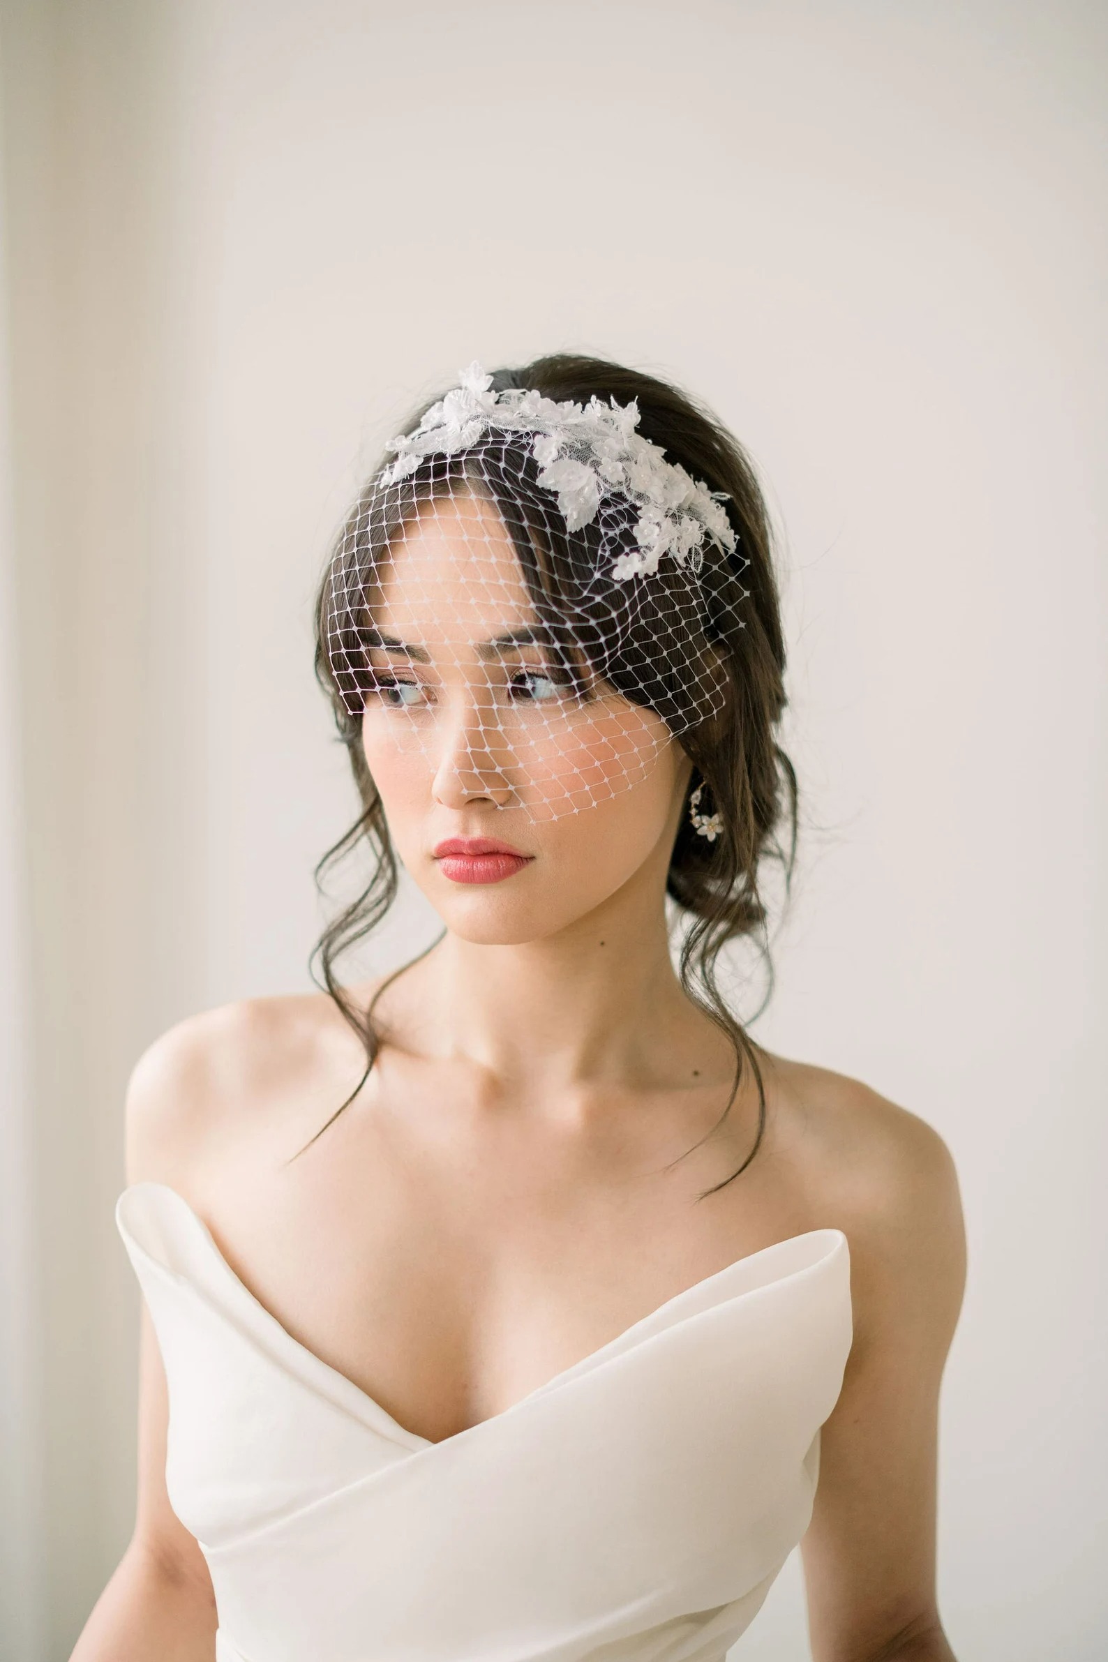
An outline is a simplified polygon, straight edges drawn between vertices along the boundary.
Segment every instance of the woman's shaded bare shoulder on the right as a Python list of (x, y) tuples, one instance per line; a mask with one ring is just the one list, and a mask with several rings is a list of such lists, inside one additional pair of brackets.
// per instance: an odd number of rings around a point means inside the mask
[(772, 1059), (787, 1158), (807, 1208), (842, 1228), (865, 1311), (895, 1308), (954, 1333), (965, 1230), (950, 1148), (920, 1115), (857, 1079)]

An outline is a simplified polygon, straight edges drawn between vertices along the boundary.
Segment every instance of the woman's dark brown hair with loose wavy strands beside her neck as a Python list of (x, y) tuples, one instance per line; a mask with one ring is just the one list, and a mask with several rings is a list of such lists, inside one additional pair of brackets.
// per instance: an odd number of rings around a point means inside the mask
[[(638, 432), (659, 445), (666, 459), (679, 462), (693, 479), (726, 497), (724, 509), (738, 535), (734, 553), (716, 543), (704, 545), (694, 613), (688, 605), (688, 583), (666, 582), (664, 568), (650, 585), (615, 583), (605, 603), (588, 612), (595, 595), (598, 527), (570, 534), (552, 507), (550, 492), (533, 479), (535, 464), (525, 444), (505, 435), (482, 457), (482, 485), (495, 500), (520, 557), (530, 597), (556, 640), (558, 618), (573, 608), (573, 638), (591, 666), (635, 703), (648, 705), (678, 735), (693, 761), (689, 794), (703, 786), (701, 813), (718, 813), (723, 833), (709, 841), (698, 836), (686, 813), (681, 819), (666, 892), (686, 924), (681, 941), (679, 977), (689, 999), (728, 1035), (734, 1047), (734, 1079), (723, 1110), (726, 1119), (749, 1065), (759, 1100), (757, 1133), (743, 1165), (723, 1188), (746, 1170), (757, 1152), (764, 1122), (766, 1094), (757, 1054), (746, 1029), (731, 1012), (718, 981), (719, 951), (726, 942), (753, 937), (766, 951), (766, 907), (759, 876), (766, 859), (784, 869), (786, 884), (796, 853), (796, 774), (777, 743), (784, 710), (784, 640), (777, 585), (771, 555), (766, 504), (754, 470), (739, 444), (716, 417), (686, 392), (653, 376), (595, 357), (540, 357), (523, 369), (502, 369), (493, 376), (495, 391), (535, 389), (543, 397), (583, 404), (593, 396), (605, 404), (638, 402)], [(412, 430), (422, 411), (405, 430)], [(375, 474), (359, 495), (336, 542), (319, 587), (316, 605), (316, 675), (327, 693), (339, 738), (346, 745), (362, 813), (351, 829), (322, 856), (316, 879), (365, 841), (372, 853), (372, 874), (362, 891), (324, 929), (312, 952), (319, 962), (317, 984), (334, 999), (365, 1049), (365, 1070), (357, 1087), (316, 1137), (347, 1107), (364, 1085), (380, 1047), (374, 1027), (374, 1004), (389, 981), (379, 986), (369, 1009), (360, 1009), (336, 979), (336, 959), (362, 941), (385, 916), (397, 894), (397, 861), (389, 839), (384, 808), (369, 773), (360, 738), (360, 695), (369, 671), (365, 630), (369, 595), (377, 580), (382, 553), (402, 522), (419, 504), (445, 494), (467, 477), (465, 454), (427, 457), (394, 492), (387, 522), (367, 512), (374, 499)], [(537, 504), (543, 507), (538, 509)], [(399, 504), (399, 505), (397, 505)], [(626, 547), (635, 547), (635, 514), (625, 515)], [(555, 527), (555, 529), (552, 529)], [(560, 527), (560, 529), (558, 529)], [(611, 525), (605, 527), (611, 538)], [(588, 575), (585, 575), (588, 573)], [(590, 580), (591, 578), (591, 580)], [(344, 597), (336, 617), (336, 592)], [(631, 605), (625, 597), (636, 597)], [(357, 603), (351, 603), (351, 597)], [(615, 598), (615, 597), (620, 598)], [(643, 598), (646, 597), (646, 598)], [(581, 617), (585, 627), (581, 627)], [(716, 676), (716, 715), (696, 718), (704, 708), (703, 685), (689, 685), (689, 632), (711, 650), (699, 655)], [(699, 703), (696, 703), (699, 700)], [(781, 834), (784, 831), (784, 836)], [(407, 966), (402, 966), (407, 967)], [(314, 1138), (312, 1138), (314, 1142)]]

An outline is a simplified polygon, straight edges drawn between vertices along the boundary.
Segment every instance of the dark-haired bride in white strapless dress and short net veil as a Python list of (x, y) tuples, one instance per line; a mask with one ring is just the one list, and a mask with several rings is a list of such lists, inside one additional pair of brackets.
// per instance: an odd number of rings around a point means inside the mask
[[(317, 623), (372, 876), (319, 994), (133, 1072), (138, 1506), (75, 1662), (723, 1662), (797, 1542), (817, 1662), (950, 1659), (950, 1155), (718, 981), (796, 828), (741, 449), (615, 364), (472, 366)], [(399, 866), (442, 936), (342, 982)]]

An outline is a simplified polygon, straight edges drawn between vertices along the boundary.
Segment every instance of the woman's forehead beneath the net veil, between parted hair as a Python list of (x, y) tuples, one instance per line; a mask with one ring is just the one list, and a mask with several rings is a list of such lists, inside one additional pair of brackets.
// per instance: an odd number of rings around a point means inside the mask
[(424, 502), (379, 565), (377, 627), (410, 638), (483, 640), (535, 622), (512, 537), (493, 502)]

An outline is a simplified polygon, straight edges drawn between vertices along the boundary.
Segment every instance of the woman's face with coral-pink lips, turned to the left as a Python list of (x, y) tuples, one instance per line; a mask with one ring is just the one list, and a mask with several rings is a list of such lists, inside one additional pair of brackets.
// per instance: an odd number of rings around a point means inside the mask
[[(515, 944), (648, 868), (664, 888), (691, 765), (653, 710), (537, 638), (480, 497), (425, 504), (380, 568), (362, 746), (404, 866), (449, 929)], [(493, 844), (488, 848), (488, 844)]]

